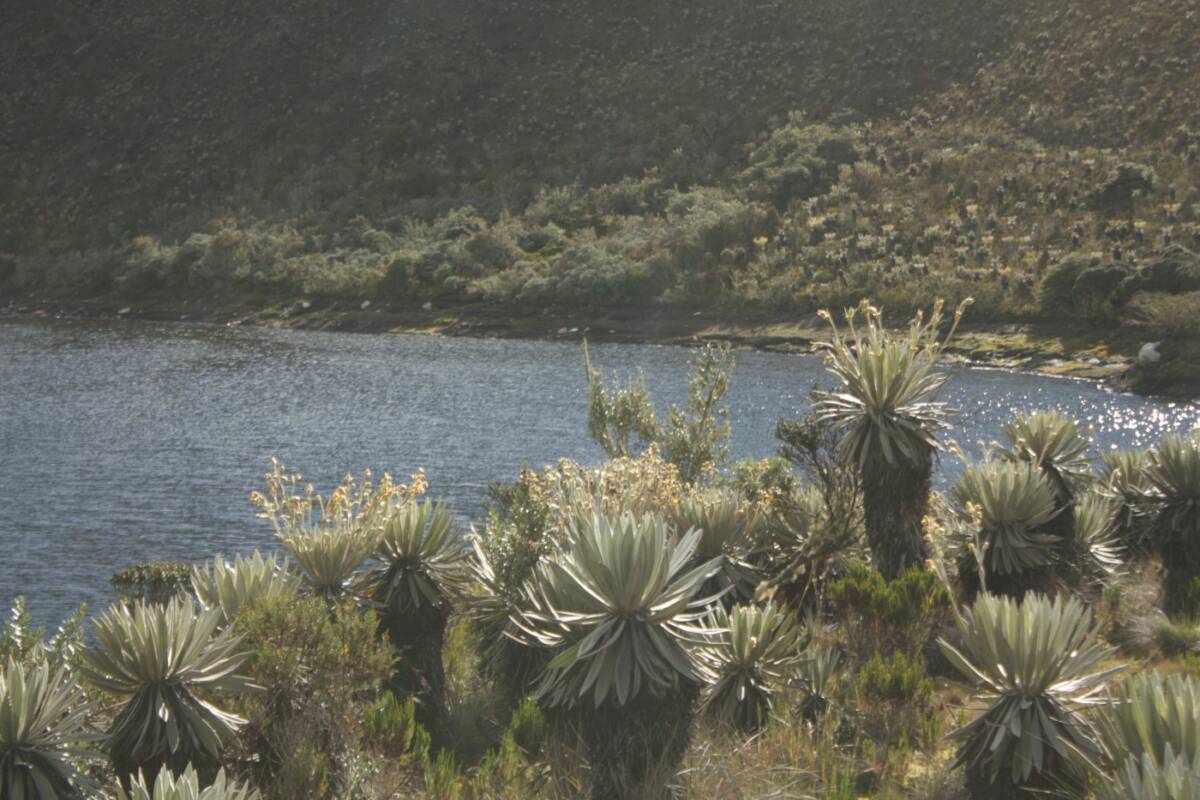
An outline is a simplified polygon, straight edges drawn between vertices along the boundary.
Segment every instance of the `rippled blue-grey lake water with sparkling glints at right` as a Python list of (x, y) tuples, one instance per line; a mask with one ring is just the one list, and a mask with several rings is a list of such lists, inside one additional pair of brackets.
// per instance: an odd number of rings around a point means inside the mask
[[(679, 402), (689, 350), (593, 347)], [(1148, 445), (1200, 422), (1192, 403), (1081, 381), (950, 368), (955, 438), (998, 435), (1056, 408), (1098, 446)], [(775, 422), (808, 407), (814, 356), (738, 353), (734, 455), (775, 452)], [(407, 476), (468, 521), (522, 464), (595, 462), (578, 343), (280, 331), (142, 321), (0, 321), (0, 603), (24, 594), (54, 624), (109, 599), (115, 570), (272, 547), (250, 493), (271, 456), (325, 491), (348, 471)], [(954, 469), (950, 463), (943, 469)]]

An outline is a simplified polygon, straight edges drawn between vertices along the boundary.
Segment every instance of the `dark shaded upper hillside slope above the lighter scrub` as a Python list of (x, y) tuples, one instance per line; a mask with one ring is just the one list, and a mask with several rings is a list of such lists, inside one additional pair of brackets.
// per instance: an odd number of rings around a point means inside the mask
[(781, 114), (889, 116), (1003, 59), (1014, 0), (14, 4), (0, 252), (716, 175)]

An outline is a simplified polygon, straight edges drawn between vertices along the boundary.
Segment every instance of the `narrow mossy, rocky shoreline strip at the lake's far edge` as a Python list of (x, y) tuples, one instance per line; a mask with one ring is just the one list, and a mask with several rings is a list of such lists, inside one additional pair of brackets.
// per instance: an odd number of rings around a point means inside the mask
[[(827, 327), (808, 318), (721, 314), (686, 309), (544, 309), (529, 314), (488, 303), (412, 307), (376, 301), (316, 299), (191, 300), (140, 302), (119, 297), (23, 297), (0, 306), (0, 319), (140, 319), (286, 327), (355, 333), (418, 333), (618, 344), (812, 353)], [(964, 321), (946, 349), (948, 362), (1076, 378), (1133, 391), (1129, 373), (1140, 342), (1104, 338), (1098, 331), (1049, 323)], [(1195, 395), (1178, 397), (1194, 398)]]

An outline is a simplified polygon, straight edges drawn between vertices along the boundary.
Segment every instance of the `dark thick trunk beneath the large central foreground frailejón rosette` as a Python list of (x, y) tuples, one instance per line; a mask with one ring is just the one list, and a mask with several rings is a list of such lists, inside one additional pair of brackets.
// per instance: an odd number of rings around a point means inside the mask
[(664, 800), (691, 741), (698, 690), (648, 693), (623, 706), (584, 705), (580, 734), (592, 764), (593, 800)]

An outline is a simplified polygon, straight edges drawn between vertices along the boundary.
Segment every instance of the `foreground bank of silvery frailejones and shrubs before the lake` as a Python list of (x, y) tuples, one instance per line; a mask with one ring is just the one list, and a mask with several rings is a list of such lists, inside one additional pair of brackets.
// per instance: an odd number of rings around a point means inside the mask
[(1194, 798), (1198, 432), (1102, 464), (1031, 410), (968, 455), (941, 307), (826, 318), (833, 391), (781, 457), (728, 463), (727, 350), (666, 421), (588, 368), (611, 457), (493, 486), (469, 535), (421, 473), (323, 495), (272, 463), (282, 559), (127, 570), (90, 638), (18, 601), (0, 792)]

